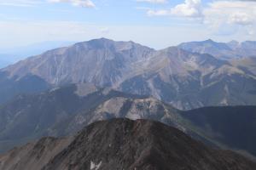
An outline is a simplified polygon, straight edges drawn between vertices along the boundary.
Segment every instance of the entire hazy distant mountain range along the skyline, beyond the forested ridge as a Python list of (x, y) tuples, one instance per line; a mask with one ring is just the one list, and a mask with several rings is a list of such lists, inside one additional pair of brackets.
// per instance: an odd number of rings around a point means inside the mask
[[(246, 58), (253, 54), (253, 44), (207, 40), (157, 51), (135, 42), (105, 38), (79, 42), (3, 68), (0, 85), (11, 85), (9, 89), (0, 88), (0, 102), (27, 92), (15, 88), (24, 77), (37, 77), (42, 81), (42, 90), (90, 82), (129, 94), (152, 95), (183, 110), (212, 105), (256, 105), (256, 60)], [(211, 50), (195, 50), (204, 46)], [(241, 58), (236, 48), (250, 50), (245, 50), (248, 53)], [(224, 60), (218, 51), (224, 49), (235, 53), (230, 53), (234, 59)]]

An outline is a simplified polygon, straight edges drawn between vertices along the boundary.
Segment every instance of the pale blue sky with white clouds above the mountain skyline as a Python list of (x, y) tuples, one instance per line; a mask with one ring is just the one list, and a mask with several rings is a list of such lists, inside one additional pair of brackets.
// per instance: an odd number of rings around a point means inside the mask
[(256, 40), (256, 0), (0, 0), (0, 48), (100, 37), (157, 49)]

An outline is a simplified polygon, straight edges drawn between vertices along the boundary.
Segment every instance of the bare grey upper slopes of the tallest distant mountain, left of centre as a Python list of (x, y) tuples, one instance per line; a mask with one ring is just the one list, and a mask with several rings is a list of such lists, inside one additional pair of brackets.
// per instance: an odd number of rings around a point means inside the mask
[(135, 42), (114, 42), (105, 38), (57, 48), (10, 65), (9, 77), (27, 74), (50, 84), (91, 82), (111, 86), (131, 71), (131, 65), (145, 59), (154, 49)]

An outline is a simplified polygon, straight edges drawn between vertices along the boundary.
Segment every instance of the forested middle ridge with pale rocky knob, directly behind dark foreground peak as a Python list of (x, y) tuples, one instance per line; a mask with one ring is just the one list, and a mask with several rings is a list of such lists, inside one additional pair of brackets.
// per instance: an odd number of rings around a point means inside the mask
[(20, 95), (0, 107), (0, 151), (43, 136), (66, 136), (99, 120), (151, 119), (177, 127), (214, 147), (256, 156), (256, 106), (178, 111), (158, 99), (92, 84)]

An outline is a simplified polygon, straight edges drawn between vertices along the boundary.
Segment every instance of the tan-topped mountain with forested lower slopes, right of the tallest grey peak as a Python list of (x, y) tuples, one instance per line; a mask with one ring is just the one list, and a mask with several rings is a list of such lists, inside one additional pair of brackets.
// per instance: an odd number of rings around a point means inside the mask
[(253, 72), (215, 59), (208, 54), (191, 54), (166, 48), (148, 62), (142, 74), (119, 85), (121, 91), (150, 94), (178, 109), (212, 105), (255, 105)]

